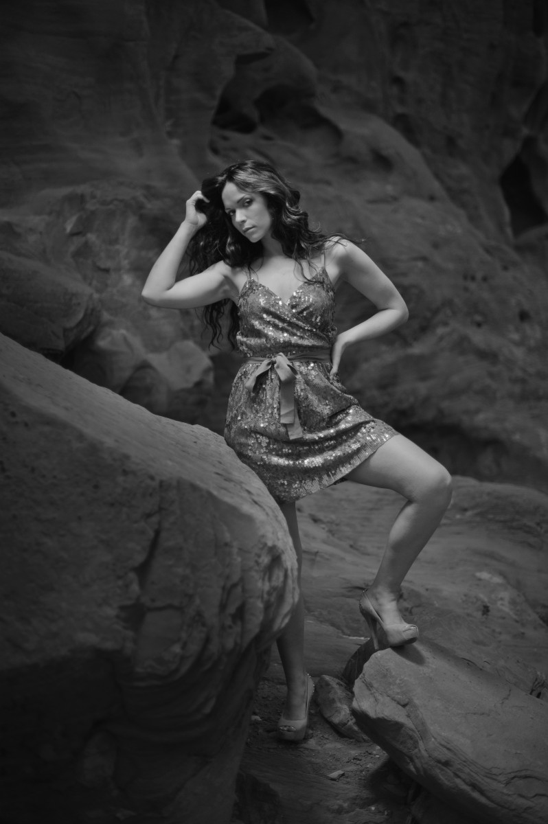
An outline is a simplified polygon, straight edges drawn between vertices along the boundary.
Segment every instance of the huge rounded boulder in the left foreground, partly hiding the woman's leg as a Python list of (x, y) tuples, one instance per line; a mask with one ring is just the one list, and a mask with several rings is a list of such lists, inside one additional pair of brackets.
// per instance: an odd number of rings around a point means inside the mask
[(283, 517), (222, 438), (0, 341), (3, 812), (228, 822)]

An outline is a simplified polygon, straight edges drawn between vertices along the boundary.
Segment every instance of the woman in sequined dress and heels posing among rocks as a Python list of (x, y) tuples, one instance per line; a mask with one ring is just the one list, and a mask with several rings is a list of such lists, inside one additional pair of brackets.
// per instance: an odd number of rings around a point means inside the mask
[[(299, 193), (264, 162), (228, 166), (204, 180), (186, 203), (185, 220), (143, 288), (158, 307), (205, 307), (212, 340), (230, 307), (228, 337), (246, 356), (228, 402), (225, 438), (278, 501), (302, 548), (295, 502), (343, 478), (394, 489), (406, 499), (386, 542), (377, 576), (359, 602), (377, 633), (396, 647), (418, 638), (400, 616), (400, 584), (438, 526), (451, 480), (437, 461), (344, 390), (337, 370), (345, 349), (386, 335), (408, 312), (395, 286), (358, 246), (308, 226)], [(188, 250), (189, 278), (176, 283)], [(377, 313), (337, 335), (335, 288), (351, 283)], [(301, 740), (313, 683), (303, 657), (302, 597), (279, 637), (288, 695), (279, 736)]]

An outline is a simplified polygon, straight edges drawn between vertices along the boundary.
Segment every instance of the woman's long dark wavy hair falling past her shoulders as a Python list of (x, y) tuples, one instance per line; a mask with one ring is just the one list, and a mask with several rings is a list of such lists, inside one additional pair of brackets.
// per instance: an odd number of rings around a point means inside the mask
[[(319, 227), (311, 228), (308, 225), (308, 214), (299, 206), (300, 192), (274, 166), (255, 160), (233, 163), (202, 183), (201, 192), (209, 202), (199, 200), (196, 208), (207, 214), (208, 221), (190, 241), (190, 274), (202, 272), (219, 260), (251, 272), (253, 261), (260, 258), (260, 241), (251, 243), (232, 226), (232, 221), (225, 212), (221, 195), (227, 183), (233, 183), (244, 192), (260, 192), (265, 197), (272, 218), (272, 236), (281, 243), (283, 254), (293, 258), (301, 267), (304, 277), (306, 274), (302, 269), (302, 261), (306, 260), (313, 269), (311, 259), (321, 253), (326, 241), (333, 239), (336, 242), (340, 238), (340, 235), (325, 235)], [(210, 343), (220, 344), (223, 338), (222, 320), (227, 312), (227, 339), (232, 344), (232, 349), (235, 349), (240, 328), (236, 303), (226, 299), (209, 304), (202, 311), (202, 321), (211, 332)]]

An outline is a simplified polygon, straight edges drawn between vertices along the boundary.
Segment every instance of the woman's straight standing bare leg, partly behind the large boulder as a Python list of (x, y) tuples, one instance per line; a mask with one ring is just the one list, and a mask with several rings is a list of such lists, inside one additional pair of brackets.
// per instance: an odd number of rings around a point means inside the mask
[[(302, 545), (297, 524), (297, 512), (294, 503), (284, 503), (281, 507), (283, 517), (288, 522), (298, 563), (298, 584), (301, 588)], [(306, 711), (306, 676), (304, 666), (304, 605), (302, 594), (283, 633), (278, 638), (279, 657), (282, 661), (288, 696), (283, 709), (287, 719), (302, 719)]]

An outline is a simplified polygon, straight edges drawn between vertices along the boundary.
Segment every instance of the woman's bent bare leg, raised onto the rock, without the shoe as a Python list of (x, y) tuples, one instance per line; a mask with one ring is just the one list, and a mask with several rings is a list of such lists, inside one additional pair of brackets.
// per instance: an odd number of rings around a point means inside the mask
[(347, 475), (358, 484), (394, 489), (407, 502), (396, 517), (368, 597), (387, 624), (401, 620), (400, 584), (451, 501), (451, 476), (415, 443), (395, 435)]

